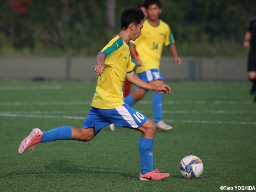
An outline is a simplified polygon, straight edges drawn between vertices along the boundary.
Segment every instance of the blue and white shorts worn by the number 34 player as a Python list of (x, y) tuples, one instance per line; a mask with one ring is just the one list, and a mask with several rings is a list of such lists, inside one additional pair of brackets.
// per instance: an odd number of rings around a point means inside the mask
[[(160, 73), (160, 71), (158, 69), (150, 69), (150, 70), (146, 70), (142, 73), (139, 73), (139, 78), (144, 80), (145, 82), (150, 82), (153, 80), (161, 80), (164, 81), (164, 78), (162, 76), (162, 74)], [(135, 86), (136, 89), (141, 89), (138, 86)], [(148, 92), (147, 89), (144, 89), (145, 92)]]

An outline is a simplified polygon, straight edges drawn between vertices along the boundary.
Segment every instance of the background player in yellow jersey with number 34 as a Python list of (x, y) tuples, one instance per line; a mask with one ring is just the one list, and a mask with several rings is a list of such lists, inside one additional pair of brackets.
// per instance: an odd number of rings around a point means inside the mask
[[(170, 27), (159, 19), (159, 14), (161, 13), (160, 0), (146, 0), (144, 6), (146, 7), (148, 19), (144, 21), (140, 38), (130, 41), (130, 52), (132, 58), (138, 64), (136, 68), (138, 76), (152, 85), (160, 86), (164, 84), (164, 79), (159, 71), (163, 46), (169, 47), (178, 65), (181, 65), (182, 61), (178, 57)], [(135, 47), (138, 56), (135, 52)], [(147, 92), (147, 89), (136, 86), (134, 93), (127, 96), (124, 102), (132, 106), (141, 100)], [(154, 122), (156, 127), (161, 130), (171, 130), (172, 126), (167, 125), (162, 120), (162, 98), (162, 93), (154, 92), (152, 98)]]

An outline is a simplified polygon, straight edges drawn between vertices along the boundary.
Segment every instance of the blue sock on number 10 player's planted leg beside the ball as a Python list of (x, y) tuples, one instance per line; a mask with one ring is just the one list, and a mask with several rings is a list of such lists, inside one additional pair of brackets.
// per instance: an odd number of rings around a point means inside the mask
[(141, 137), (139, 141), (140, 168), (141, 173), (145, 174), (153, 170), (153, 144), (154, 139)]

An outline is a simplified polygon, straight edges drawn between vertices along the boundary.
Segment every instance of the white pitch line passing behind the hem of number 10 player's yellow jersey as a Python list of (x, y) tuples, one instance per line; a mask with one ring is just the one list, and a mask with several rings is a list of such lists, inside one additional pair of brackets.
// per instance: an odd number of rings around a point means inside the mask
[[(141, 105), (151, 104), (151, 101), (139, 101), (137, 103)], [(216, 101), (205, 101), (205, 100), (199, 100), (199, 101), (163, 101), (163, 104), (252, 104), (253, 102), (251, 100), (245, 100), (245, 101), (222, 101), (222, 100), (216, 100)], [(0, 106), (16, 106), (16, 105), (87, 105), (91, 104), (91, 101), (63, 101), (63, 102), (0, 102)]]

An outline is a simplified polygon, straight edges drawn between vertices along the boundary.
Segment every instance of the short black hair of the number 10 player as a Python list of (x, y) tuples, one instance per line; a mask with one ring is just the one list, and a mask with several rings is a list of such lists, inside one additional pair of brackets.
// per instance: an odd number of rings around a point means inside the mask
[(128, 26), (132, 23), (135, 24), (135, 26), (138, 26), (140, 22), (144, 18), (144, 13), (140, 8), (131, 7), (125, 9), (121, 14), (121, 29), (126, 30)]

